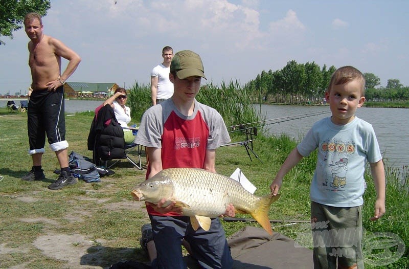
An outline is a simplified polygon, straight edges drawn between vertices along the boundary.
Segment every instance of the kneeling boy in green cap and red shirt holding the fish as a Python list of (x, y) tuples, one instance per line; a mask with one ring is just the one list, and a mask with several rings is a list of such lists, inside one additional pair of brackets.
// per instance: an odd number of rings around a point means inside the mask
[[(229, 143), (230, 136), (220, 114), (196, 101), (201, 78), (205, 78), (200, 56), (192, 51), (177, 52), (170, 64), (172, 98), (150, 107), (142, 117), (136, 143), (147, 147), (146, 179), (167, 168), (202, 168), (216, 172), (216, 148)], [(165, 198), (165, 197), (164, 197)], [(231, 268), (233, 259), (218, 218), (210, 230), (195, 231), (188, 216), (181, 216), (175, 202), (146, 203), (152, 224), (156, 259), (153, 268), (187, 268), (181, 253), (185, 239), (190, 254), (202, 268)], [(234, 207), (226, 209), (234, 216)]]

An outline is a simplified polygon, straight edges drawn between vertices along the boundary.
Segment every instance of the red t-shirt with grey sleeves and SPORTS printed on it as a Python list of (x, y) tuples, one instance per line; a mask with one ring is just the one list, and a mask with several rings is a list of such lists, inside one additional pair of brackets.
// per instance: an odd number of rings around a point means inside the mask
[[(206, 152), (230, 142), (223, 118), (195, 101), (191, 116), (177, 111), (172, 99), (150, 107), (142, 117), (136, 143), (162, 149), (162, 168), (203, 168)], [(149, 177), (150, 167), (146, 174)], [(148, 213), (161, 215), (151, 207)], [(176, 213), (166, 215), (174, 216)]]

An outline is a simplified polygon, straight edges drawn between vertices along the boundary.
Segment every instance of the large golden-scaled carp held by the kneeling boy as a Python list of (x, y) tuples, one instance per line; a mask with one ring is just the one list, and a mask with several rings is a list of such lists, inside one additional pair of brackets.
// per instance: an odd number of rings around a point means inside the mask
[(237, 213), (250, 214), (272, 234), (268, 210), (279, 197), (271, 194), (255, 196), (232, 178), (196, 168), (169, 168), (137, 185), (131, 192), (135, 200), (157, 204), (167, 199), (164, 207), (176, 201), (184, 216), (190, 216), (194, 230), (208, 231), (210, 218), (225, 213), (233, 204)]

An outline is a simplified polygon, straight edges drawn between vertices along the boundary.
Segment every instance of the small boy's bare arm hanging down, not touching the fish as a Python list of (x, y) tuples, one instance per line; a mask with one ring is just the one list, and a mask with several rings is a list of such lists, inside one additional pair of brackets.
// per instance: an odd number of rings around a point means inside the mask
[(378, 220), (385, 214), (385, 170), (383, 168), (383, 162), (380, 160), (377, 163), (370, 163), (372, 177), (374, 178), (376, 200), (375, 200), (375, 213), (371, 217), (371, 220)]

